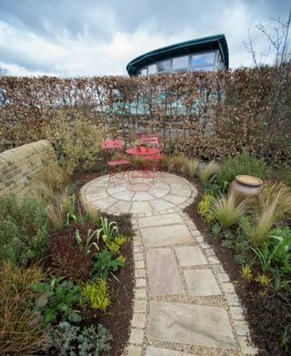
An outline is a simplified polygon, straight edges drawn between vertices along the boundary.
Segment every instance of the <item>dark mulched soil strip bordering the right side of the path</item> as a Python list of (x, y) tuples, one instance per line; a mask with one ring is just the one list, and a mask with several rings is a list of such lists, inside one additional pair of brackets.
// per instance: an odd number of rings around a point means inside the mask
[[(247, 282), (242, 278), (240, 271), (241, 266), (234, 259), (232, 249), (221, 246), (221, 239), (214, 239), (211, 236), (210, 229), (206, 222), (197, 213), (197, 205), (202, 198), (203, 188), (197, 178), (191, 179), (195, 184), (198, 194), (193, 204), (185, 209), (185, 212), (196, 224), (206, 241), (212, 245), (216, 251), (217, 258), (221, 261), (230, 280), (235, 286), (236, 293), (241, 300), (243, 307), (246, 309), (246, 321), (250, 327), (252, 341), (259, 349), (258, 355), (290, 355), (290, 339), (286, 341), (286, 347), (280, 345), (279, 338), (282, 335), (282, 327), (290, 328), (291, 325), (291, 307), (287, 305), (286, 300), (279, 296), (266, 294), (265, 297), (259, 295), (260, 290), (258, 283), (255, 281)], [(253, 255), (249, 253), (249, 260)], [(260, 272), (257, 266), (252, 267), (254, 274)], [(290, 302), (290, 300), (289, 300)], [(282, 321), (286, 325), (282, 325)], [(290, 335), (286, 335), (290, 337)]]

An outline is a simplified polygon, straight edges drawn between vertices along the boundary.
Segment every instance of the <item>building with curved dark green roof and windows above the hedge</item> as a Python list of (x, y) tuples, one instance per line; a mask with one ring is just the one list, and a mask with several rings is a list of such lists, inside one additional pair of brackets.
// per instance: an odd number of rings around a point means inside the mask
[(228, 68), (225, 35), (208, 36), (158, 48), (136, 57), (126, 66), (129, 76), (216, 71)]

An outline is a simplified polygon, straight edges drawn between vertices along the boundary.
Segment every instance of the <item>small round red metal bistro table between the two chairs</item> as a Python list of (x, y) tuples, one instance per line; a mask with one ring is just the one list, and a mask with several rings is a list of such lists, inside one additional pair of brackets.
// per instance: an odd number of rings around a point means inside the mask
[(154, 160), (160, 154), (160, 149), (157, 147), (133, 147), (128, 148), (125, 151), (132, 158), (140, 157), (142, 158), (141, 168), (139, 172), (134, 176), (134, 178), (154, 178), (154, 174), (151, 173), (148, 169), (148, 161)]

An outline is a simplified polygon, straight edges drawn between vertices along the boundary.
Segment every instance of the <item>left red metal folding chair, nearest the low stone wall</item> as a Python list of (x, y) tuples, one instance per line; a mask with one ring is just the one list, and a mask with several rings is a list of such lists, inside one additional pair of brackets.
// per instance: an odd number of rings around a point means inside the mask
[(120, 152), (122, 153), (123, 147), (125, 146), (124, 141), (121, 139), (116, 140), (105, 140), (102, 141), (102, 149), (105, 151), (106, 156), (106, 163), (108, 165), (108, 173), (109, 173), (109, 180), (113, 182), (115, 185), (115, 173), (118, 172), (118, 168), (121, 168), (123, 173), (123, 178), (128, 171), (128, 167), (130, 165), (130, 161), (127, 159), (116, 159), (116, 160), (108, 160), (108, 153), (112, 152)]

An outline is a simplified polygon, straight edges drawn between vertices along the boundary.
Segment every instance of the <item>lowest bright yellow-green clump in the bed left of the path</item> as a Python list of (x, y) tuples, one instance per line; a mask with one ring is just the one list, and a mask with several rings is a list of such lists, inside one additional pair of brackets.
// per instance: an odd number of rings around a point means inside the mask
[(110, 304), (105, 280), (96, 280), (95, 283), (86, 283), (81, 293), (81, 304), (89, 303), (95, 310), (105, 312)]

